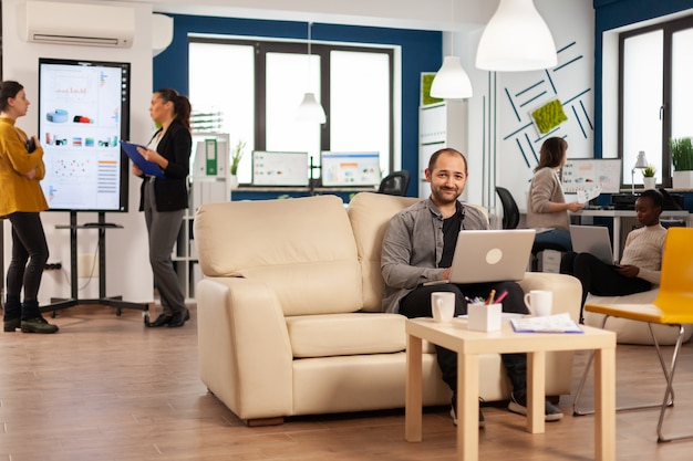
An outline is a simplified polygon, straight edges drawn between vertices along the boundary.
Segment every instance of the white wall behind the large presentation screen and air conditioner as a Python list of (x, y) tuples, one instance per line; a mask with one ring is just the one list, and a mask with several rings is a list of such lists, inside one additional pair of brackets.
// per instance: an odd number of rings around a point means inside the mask
[[(74, 2), (74, 1), (73, 1)], [(93, 1), (91, 3), (99, 3)], [(2, 0), (2, 67), (3, 80), (15, 80), (24, 85), (29, 101), (25, 117), (18, 126), (28, 134), (37, 134), (39, 57), (85, 59), (132, 63), (131, 87), (131, 138), (144, 142), (152, 133), (153, 124), (148, 114), (152, 96), (152, 7), (144, 3), (117, 3), (135, 9), (136, 32), (131, 49), (108, 49), (96, 46), (69, 46), (28, 43), (21, 36), (24, 23), (21, 18), (24, 1)], [(104, 18), (107, 20), (107, 18)], [(122, 295), (124, 301), (149, 302), (153, 297), (153, 277), (147, 256), (146, 228), (144, 216), (137, 211), (141, 180), (130, 177), (130, 201), (127, 213), (106, 213), (108, 222), (122, 224), (124, 229), (106, 231), (106, 295)], [(41, 213), (51, 256), (49, 262), (62, 262), (69, 274), (70, 231), (58, 230), (56, 224), (69, 224), (68, 212)], [(96, 213), (77, 213), (80, 223), (96, 221)], [(79, 231), (77, 253), (94, 253), (97, 231)], [(4, 223), (4, 268), (9, 264), (11, 249), (10, 226)], [(79, 279), (79, 286), (89, 279)], [(99, 296), (99, 280), (93, 279), (89, 286), (79, 293), (80, 298)], [(48, 304), (51, 297), (70, 297), (70, 282), (61, 271), (44, 272), (39, 292), (39, 302)]]

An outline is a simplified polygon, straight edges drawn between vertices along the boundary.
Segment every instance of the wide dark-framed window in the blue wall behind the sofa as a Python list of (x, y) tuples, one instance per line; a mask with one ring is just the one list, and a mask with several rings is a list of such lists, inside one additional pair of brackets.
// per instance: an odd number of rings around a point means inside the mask
[[(384, 176), (394, 164), (393, 56), (392, 48), (311, 43), (309, 61), (304, 42), (192, 36), (193, 112), (217, 117), (207, 127), (228, 133), (231, 146), (247, 143), (241, 184), (252, 180), (252, 150), (307, 151), (313, 178), (321, 151), (379, 151)], [(327, 124), (296, 119), (307, 92), (322, 102)]]

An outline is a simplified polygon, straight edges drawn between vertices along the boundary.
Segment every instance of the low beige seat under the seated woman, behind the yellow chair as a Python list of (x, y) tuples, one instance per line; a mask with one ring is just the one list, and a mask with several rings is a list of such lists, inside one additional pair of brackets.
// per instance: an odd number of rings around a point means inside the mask
[[(625, 296), (596, 296), (589, 294), (586, 304), (651, 304), (659, 293), (659, 289), (642, 293), (629, 294)], [(601, 327), (603, 314), (585, 312), (585, 324)], [(693, 328), (689, 327), (684, 332), (684, 343), (691, 339)], [(645, 322), (631, 321), (629, 318), (609, 317), (604, 329), (616, 333), (616, 340), (619, 344), (652, 345), (652, 335)], [(660, 346), (671, 346), (676, 343), (679, 328), (672, 325), (652, 325), (652, 332)]]

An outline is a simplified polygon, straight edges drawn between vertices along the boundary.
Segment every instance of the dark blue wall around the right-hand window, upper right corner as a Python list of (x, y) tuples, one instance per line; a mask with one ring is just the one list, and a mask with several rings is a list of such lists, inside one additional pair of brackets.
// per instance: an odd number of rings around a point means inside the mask
[(594, 7), (594, 156), (602, 146), (602, 33), (693, 8), (693, 0), (593, 0)]

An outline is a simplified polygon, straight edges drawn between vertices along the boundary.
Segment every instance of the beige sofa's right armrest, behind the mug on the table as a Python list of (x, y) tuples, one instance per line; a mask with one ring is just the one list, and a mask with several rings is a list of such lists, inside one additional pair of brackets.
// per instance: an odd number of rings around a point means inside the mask
[(571, 275), (549, 272), (527, 272), (519, 281), (525, 293), (530, 290), (548, 290), (554, 293), (551, 314), (567, 312), (576, 322), (580, 319), (580, 304), (582, 302), (582, 285)]

